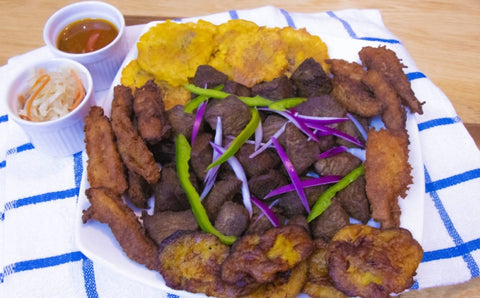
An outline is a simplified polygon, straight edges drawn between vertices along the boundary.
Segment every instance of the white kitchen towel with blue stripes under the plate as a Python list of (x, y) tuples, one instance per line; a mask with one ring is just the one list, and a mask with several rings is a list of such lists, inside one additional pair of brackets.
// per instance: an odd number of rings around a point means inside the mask
[[(332, 58), (349, 61), (359, 61), (363, 46), (394, 50), (407, 66), (415, 94), (426, 102), (424, 114), (415, 115), (425, 180), (425, 253), (412, 288), (480, 275), (480, 151), (449, 99), (417, 69), (378, 10), (294, 13), (268, 6), (176, 21), (200, 18), (217, 24), (240, 18), (265, 26), (307, 28), (327, 43)], [(140, 31), (141, 26), (127, 28), (130, 46)], [(0, 68), (2, 96), (11, 69), (48, 55), (40, 48)], [(97, 96), (101, 100), (105, 94)], [(85, 152), (65, 158), (43, 155), (8, 119), (3, 105), (0, 140), (0, 297), (176, 296), (134, 281), (79, 250), (74, 227)]]

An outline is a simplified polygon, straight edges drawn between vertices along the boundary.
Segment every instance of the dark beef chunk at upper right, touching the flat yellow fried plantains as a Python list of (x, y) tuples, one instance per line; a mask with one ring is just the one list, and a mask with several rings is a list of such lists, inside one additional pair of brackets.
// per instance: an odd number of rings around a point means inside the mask
[(291, 80), (297, 87), (298, 96), (312, 97), (329, 94), (332, 82), (320, 63), (313, 58), (305, 59), (293, 72)]

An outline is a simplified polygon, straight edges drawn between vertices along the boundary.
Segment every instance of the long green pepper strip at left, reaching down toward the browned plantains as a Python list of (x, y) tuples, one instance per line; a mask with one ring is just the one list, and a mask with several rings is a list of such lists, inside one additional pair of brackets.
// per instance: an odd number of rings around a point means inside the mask
[(179, 134), (177, 136), (175, 140), (175, 149), (177, 176), (180, 180), (180, 185), (182, 185), (183, 190), (187, 194), (188, 201), (190, 202), (193, 215), (195, 216), (198, 225), (203, 231), (217, 236), (223, 244), (232, 245), (237, 238), (235, 236), (225, 236), (215, 229), (208, 219), (207, 212), (200, 201), (200, 196), (197, 190), (190, 181), (188, 162), (190, 160), (192, 148), (190, 147), (190, 144), (184, 135)]

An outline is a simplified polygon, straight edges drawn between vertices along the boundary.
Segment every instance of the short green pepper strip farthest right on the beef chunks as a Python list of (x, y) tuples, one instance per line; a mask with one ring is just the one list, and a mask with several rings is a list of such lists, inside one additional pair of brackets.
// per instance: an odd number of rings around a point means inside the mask
[(325, 211), (332, 204), (332, 198), (335, 196), (335, 194), (347, 187), (363, 173), (365, 173), (365, 169), (362, 164), (358, 168), (348, 173), (345, 177), (340, 179), (340, 181), (338, 181), (336, 184), (329, 187), (325, 192), (323, 192), (313, 205), (312, 210), (307, 217), (307, 221), (311, 222), (317, 216), (321, 215), (323, 211)]

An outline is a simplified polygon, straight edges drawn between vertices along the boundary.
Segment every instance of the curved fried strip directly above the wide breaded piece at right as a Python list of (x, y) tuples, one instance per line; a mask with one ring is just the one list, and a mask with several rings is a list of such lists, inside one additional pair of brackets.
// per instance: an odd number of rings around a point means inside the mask
[(363, 82), (373, 90), (375, 97), (384, 103), (382, 121), (385, 127), (405, 130), (407, 111), (402, 106), (402, 101), (395, 89), (374, 69), (367, 72)]

